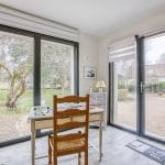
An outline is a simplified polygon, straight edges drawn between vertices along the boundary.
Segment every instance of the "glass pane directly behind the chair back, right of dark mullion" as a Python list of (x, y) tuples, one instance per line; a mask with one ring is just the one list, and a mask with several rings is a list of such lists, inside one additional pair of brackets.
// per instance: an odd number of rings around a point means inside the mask
[(74, 94), (74, 46), (42, 40), (41, 47), (41, 105), (52, 107), (54, 95)]

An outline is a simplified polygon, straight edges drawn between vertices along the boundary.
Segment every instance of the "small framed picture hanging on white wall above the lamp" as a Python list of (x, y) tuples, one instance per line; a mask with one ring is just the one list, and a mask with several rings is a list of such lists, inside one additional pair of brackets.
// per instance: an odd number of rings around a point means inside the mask
[(85, 66), (85, 78), (95, 79), (97, 75), (97, 68), (94, 66)]

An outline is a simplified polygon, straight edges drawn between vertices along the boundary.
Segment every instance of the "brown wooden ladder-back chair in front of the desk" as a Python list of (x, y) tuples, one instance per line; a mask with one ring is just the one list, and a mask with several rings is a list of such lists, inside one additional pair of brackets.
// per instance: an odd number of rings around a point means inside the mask
[[(84, 106), (61, 110), (58, 105), (63, 106), (66, 102)], [(85, 165), (88, 165), (89, 96), (67, 96), (64, 98), (54, 96), (53, 106), (53, 135), (48, 136), (48, 165), (52, 163), (57, 165), (58, 156), (70, 154), (78, 154), (78, 165), (80, 165), (81, 153), (85, 153)], [(82, 129), (84, 131), (81, 131)], [(59, 133), (61, 130), (65, 131)]]

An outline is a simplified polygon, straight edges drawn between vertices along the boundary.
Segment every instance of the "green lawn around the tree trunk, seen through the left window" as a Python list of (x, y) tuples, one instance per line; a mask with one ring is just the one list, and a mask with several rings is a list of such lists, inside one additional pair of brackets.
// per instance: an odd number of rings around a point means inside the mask
[[(54, 95), (69, 95), (70, 90), (64, 90), (62, 92), (62, 89), (42, 89), (41, 90), (41, 103), (45, 106), (51, 106), (53, 102), (53, 96)], [(16, 109), (15, 110), (9, 110), (4, 102), (7, 100), (7, 90), (0, 89), (0, 118), (10, 118), (14, 119), (21, 116), (25, 116), (30, 112), (31, 107), (33, 106), (33, 89), (26, 89), (25, 92), (19, 98), (16, 102)], [(3, 106), (2, 106), (3, 105)]]

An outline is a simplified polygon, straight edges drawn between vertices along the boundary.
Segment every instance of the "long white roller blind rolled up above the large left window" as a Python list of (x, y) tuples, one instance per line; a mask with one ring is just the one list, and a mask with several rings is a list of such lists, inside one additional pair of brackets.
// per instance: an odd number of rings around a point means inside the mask
[(0, 4), (0, 24), (78, 42), (77, 29)]

